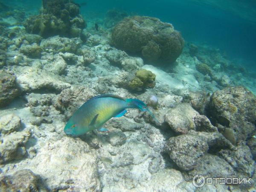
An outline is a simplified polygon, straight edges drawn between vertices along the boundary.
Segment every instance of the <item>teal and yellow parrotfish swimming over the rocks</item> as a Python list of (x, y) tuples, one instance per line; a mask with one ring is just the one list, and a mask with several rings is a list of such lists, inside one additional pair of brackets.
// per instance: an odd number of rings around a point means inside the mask
[(123, 99), (116, 95), (104, 94), (95, 96), (85, 102), (68, 120), (64, 132), (76, 137), (94, 129), (108, 131), (102, 128), (102, 125), (112, 117), (123, 116), (127, 112), (126, 108), (148, 111), (155, 119), (147, 105), (139, 99)]

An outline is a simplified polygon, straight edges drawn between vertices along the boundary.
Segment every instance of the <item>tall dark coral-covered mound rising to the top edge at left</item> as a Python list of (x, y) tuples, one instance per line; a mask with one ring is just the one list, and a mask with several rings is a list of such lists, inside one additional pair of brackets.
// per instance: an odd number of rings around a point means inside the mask
[(79, 37), (86, 22), (79, 15), (79, 6), (70, 1), (44, 0), (44, 14), (29, 17), (24, 26), (26, 31), (44, 38), (62, 35)]

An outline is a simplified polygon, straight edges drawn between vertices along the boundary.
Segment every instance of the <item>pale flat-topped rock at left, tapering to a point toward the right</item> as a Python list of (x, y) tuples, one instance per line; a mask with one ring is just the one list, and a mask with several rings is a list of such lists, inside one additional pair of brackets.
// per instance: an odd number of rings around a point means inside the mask
[(25, 93), (35, 90), (53, 90), (58, 93), (70, 87), (70, 84), (61, 81), (59, 76), (46, 70), (35, 67), (17, 67), (15, 71), (21, 90)]

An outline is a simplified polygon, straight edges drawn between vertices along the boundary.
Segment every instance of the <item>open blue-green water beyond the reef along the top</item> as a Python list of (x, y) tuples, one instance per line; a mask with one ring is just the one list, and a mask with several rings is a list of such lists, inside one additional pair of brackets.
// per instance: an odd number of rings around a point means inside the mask
[[(39, 10), (41, 0), (2, 0)], [(187, 42), (207, 44), (227, 53), (235, 63), (256, 70), (256, 1), (254, 0), (75, 0), (86, 2), (80, 13), (105, 17), (109, 9), (158, 17), (172, 23)]]

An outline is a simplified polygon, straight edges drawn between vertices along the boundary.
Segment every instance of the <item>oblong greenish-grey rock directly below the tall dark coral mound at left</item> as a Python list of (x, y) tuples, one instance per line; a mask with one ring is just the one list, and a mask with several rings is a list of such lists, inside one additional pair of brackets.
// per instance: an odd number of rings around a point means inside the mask
[(59, 53), (70, 52), (75, 53), (81, 47), (80, 38), (61, 38), (59, 36), (50, 37), (41, 41), (40, 47), (45, 51)]

